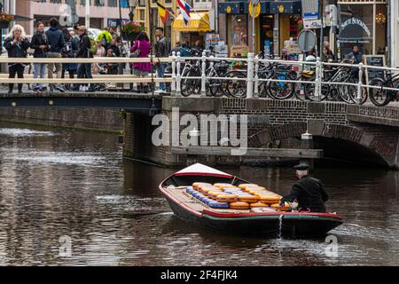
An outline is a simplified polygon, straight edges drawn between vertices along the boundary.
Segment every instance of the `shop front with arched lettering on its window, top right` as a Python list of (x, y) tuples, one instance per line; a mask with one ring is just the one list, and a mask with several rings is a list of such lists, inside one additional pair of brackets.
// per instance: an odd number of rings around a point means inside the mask
[(358, 44), (364, 55), (387, 56), (387, 4), (340, 4), (340, 57), (345, 58)]

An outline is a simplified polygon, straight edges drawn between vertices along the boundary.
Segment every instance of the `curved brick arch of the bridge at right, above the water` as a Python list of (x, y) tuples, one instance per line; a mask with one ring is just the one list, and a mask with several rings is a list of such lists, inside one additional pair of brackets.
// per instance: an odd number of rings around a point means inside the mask
[[(296, 138), (300, 143), (301, 134), (307, 130), (307, 122), (294, 122), (280, 125), (272, 125), (270, 128), (259, 130), (248, 138), (249, 147), (268, 147), (270, 144), (276, 143), (287, 138)], [(381, 128), (367, 127), (364, 125), (340, 125), (340, 124), (324, 124), (318, 130), (309, 131), (313, 134), (315, 145), (323, 147), (325, 142), (334, 139), (345, 141), (352, 146), (359, 147), (358, 150), (369, 155), (368, 162), (383, 163), (388, 167), (395, 167), (397, 152), (397, 135), (392, 135), (390, 130)], [(347, 147), (347, 144), (334, 144), (339, 149)], [(328, 150), (328, 149), (324, 149)], [(371, 157), (375, 158), (370, 159)]]

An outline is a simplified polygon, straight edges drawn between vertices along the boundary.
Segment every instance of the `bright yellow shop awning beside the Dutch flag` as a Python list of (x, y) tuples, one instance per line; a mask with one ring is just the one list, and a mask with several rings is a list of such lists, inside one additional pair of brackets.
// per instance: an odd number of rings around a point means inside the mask
[(187, 25), (183, 15), (180, 14), (173, 21), (172, 29), (178, 32), (209, 32), (209, 12), (190, 12), (190, 20)]

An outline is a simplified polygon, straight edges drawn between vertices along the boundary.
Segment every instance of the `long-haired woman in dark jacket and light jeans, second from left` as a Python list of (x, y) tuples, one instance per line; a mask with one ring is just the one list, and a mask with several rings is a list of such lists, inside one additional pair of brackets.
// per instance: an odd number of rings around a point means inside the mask
[[(34, 36), (32, 36), (30, 48), (34, 50), (35, 59), (43, 59), (47, 57), (47, 51), (49, 50), (49, 40), (44, 33), (44, 25), (41, 21), (36, 24), (36, 33)], [(43, 79), (46, 73), (46, 63), (34, 63), (34, 79)], [(33, 91), (47, 91), (47, 87), (43, 86), (43, 83), (35, 83), (33, 85)]]

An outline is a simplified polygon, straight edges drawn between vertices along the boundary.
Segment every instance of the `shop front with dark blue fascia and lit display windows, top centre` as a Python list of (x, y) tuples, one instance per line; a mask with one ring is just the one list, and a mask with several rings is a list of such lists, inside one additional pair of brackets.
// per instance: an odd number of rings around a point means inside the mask
[[(264, 51), (271, 57), (281, 57), (287, 41), (296, 40), (300, 31), (301, 1), (262, 1), (261, 14), (255, 19), (255, 52)], [(248, 1), (219, 4), (219, 12), (226, 14), (226, 38), (231, 56), (245, 56), (252, 41), (252, 18)]]

